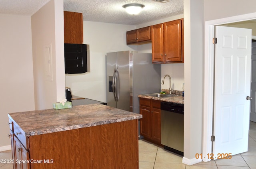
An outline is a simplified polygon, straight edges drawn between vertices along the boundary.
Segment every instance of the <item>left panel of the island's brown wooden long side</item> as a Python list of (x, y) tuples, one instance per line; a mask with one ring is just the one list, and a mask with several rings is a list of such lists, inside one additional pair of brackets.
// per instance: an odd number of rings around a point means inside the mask
[(29, 145), (30, 162), (42, 162), (31, 169), (92, 169), (90, 128), (30, 136)]

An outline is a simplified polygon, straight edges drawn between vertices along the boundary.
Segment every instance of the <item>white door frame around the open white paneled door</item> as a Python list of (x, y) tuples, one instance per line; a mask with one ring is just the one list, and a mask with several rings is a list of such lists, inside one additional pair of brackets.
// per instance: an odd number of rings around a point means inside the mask
[(213, 113), (213, 96), (214, 96), (214, 26), (241, 22), (256, 19), (256, 13), (232, 16), (218, 20), (205, 22), (204, 31), (204, 124), (203, 124), (203, 161), (210, 161), (207, 154), (212, 153), (212, 113)]

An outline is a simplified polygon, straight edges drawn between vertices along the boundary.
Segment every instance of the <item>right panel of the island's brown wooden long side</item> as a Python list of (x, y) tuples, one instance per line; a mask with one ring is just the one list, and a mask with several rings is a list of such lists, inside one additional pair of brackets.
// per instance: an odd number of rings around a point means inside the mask
[(94, 126), (93, 169), (138, 169), (138, 120)]

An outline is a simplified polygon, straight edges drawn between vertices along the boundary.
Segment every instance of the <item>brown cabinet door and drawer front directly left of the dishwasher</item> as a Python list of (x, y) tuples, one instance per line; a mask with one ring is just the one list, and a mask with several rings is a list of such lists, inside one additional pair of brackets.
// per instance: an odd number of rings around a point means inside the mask
[(159, 100), (151, 100), (151, 138), (161, 143), (161, 110)]

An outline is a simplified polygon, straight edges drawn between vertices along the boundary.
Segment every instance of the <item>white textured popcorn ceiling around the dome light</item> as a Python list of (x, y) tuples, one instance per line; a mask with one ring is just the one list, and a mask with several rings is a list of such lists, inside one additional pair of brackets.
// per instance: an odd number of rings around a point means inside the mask
[[(0, 0), (0, 14), (33, 15), (50, 0)], [(124, 4), (144, 4), (138, 15), (127, 14)], [(183, 14), (183, 0), (64, 0), (64, 10), (83, 13), (85, 21), (138, 25)]]

